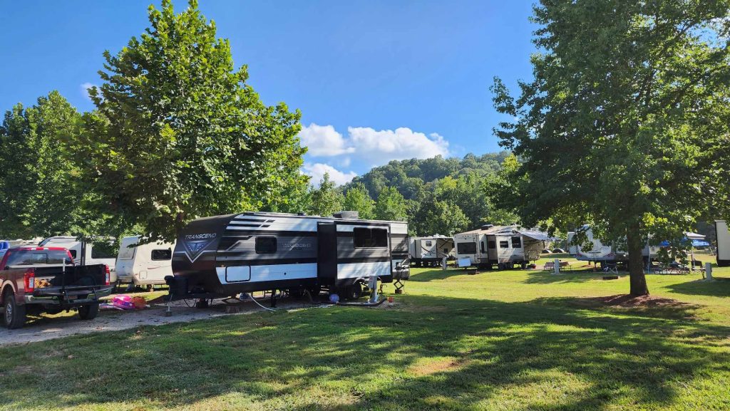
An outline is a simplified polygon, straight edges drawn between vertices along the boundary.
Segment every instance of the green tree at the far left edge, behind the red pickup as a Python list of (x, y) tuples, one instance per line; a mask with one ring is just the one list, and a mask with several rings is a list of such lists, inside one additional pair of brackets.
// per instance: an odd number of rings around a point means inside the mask
[(92, 215), (80, 205), (91, 193), (80, 181), (69, 143), (81, 115), (58, 91), (23, 109), (17, 104), (0, 126), (0, 237), (93, 234)]

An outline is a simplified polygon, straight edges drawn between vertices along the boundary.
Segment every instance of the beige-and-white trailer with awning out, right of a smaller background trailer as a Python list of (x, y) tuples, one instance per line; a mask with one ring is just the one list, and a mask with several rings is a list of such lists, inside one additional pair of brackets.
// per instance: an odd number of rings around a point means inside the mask
[(536, 261), (545, 242), (555, 241), (547, 233), (524, 230), (517, 226), (492, 226), (456, 234), (456, 258), (460, 266), (492, 269), (523, 268)]

